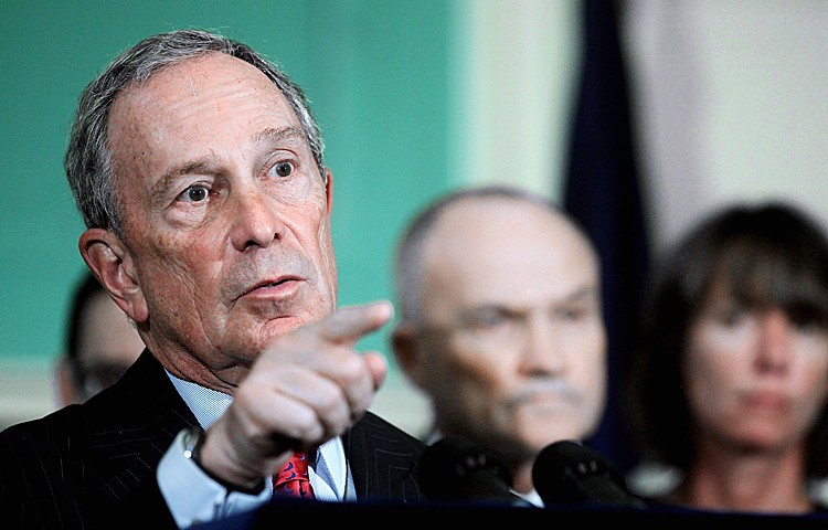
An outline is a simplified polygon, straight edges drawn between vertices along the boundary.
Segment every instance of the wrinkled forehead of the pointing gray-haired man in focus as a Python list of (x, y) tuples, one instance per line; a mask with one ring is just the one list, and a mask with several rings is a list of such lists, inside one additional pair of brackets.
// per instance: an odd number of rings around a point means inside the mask
[[(116, 174), (158, 179), (172, 165), (245, 153), (263, 131), (288, 127), (299, 130), (299, 120), (263, 72), (211, 52), (121, 92), (109, 116), (109, 144)], [(307, 148), (304, 135), (300, 140)]]

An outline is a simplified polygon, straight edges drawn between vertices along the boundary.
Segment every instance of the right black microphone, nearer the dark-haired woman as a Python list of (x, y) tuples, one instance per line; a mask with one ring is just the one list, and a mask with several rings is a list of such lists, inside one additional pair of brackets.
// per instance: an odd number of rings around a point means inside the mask
[(624, 477), (594, 449), (572, 441), (544, 447), (532, 466), (532, 481), (545, 506), (576, 502), (645, 508), (627, 491)]

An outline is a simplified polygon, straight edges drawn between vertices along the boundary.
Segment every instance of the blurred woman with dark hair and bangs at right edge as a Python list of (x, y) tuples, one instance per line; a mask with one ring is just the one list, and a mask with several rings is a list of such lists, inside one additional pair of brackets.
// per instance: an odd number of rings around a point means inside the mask
[(655, 271), (625, 395), (643, 462), (699, 509), (824, 510), (828, 475), (828, 239), (784, 203), (730, 206)]

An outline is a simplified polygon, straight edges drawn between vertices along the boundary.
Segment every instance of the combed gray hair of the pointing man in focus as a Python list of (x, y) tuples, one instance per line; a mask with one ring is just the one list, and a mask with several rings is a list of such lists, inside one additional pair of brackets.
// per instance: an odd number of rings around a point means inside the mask
[(279, 88), (296, 113), (319, 174), (325, 177), (325, 145), (305, 92), (276, 64), (248, 45), (202, 30), (176, 30), (141, 40), (93, 80), (81, 94), (64, 157), (64, 169), (75, 203), (87, 229), (112, 230), (124, 239), (124, 220), (115, 192), (116, 176), (109, 150), (109, 110), (118, 94), (146, 82), (160, 70), (210, 52), (225, 53), (262, 71)]

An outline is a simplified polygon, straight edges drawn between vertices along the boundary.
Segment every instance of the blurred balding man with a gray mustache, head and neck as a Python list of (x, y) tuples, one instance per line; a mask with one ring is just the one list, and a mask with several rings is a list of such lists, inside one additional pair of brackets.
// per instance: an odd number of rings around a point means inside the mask
[(597, 428), (606, 332), (597, 254), (543, 198), (477, 187), (429, 204), (396, 255), (397, 363), (429, 399), (429, 442), (496, 451), (513, 490), (542, 506), (532, 465)]

